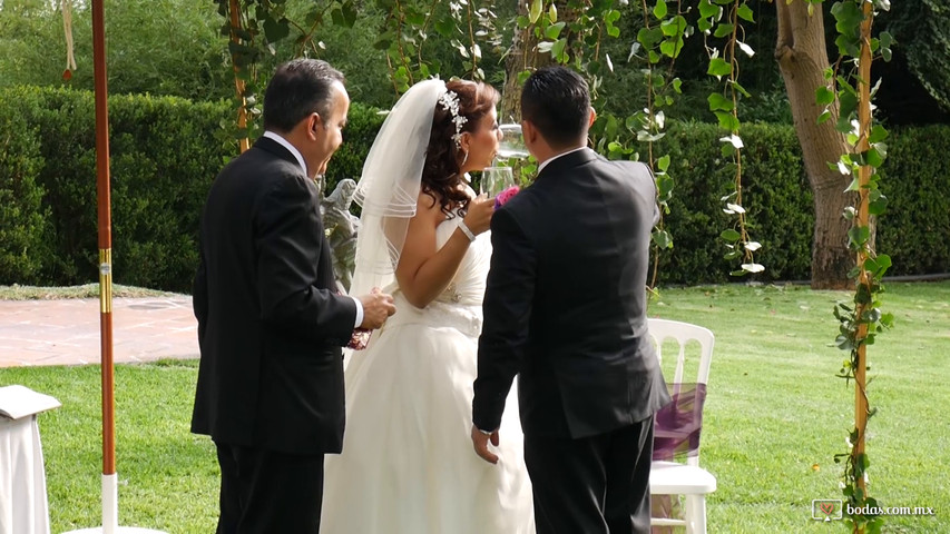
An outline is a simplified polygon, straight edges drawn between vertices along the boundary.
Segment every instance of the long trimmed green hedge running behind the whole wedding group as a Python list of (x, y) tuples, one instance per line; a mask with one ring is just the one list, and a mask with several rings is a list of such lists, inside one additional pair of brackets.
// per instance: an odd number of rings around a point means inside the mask
[[(87, 91), (0, 90), (0, 284), (75, 285), (98, 275), (94, 97)], [(231, 103), (116, 96), (109, 100), (115, 280), (188, 291), (197, 228), (212, 180), (237, 154), (227, 138)], [(327, 189), (358, 177), (384, 116), (351, 106)], [(714, 125), (675, 123), (655, 147), (669, 154), (676, 180), (666, 227), (674, 248), (659, 257), (660, 284), (735, 281), (719, 233), (729, 227), (721, 198), (734, 168), (721, 157)], [(743, 127), (743, 205), (762, 243), (761, 281), (811, 274), (813, 198), (794, 130)], [(890, 199), (878, 248), (891, 275), (944, 273), (950, 265), (950, 127), (892, 132), (882, 186)]]

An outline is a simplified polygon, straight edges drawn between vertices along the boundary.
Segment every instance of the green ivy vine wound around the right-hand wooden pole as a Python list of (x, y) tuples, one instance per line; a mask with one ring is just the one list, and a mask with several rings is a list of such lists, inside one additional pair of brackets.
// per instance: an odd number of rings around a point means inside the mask
[[(810, 1), (814, 4), (820, 0)], [(844, 517), (855, 533), (881, 532), (883, 523), (874, 513), (876, 500), (869, 495), (866, 487), (871, 461), (864, 449), (864, 439), (868, 421), (876, 412), (870, 405), (866, 390), (866, 347), (894, 320), (892, 314), (883, 312), (881, 303), (882, 279), (891, 266), (891, 258), (874, 250), (872, 238), (872, 218), (883, 214), (888, 205), (876, 172), (888, 155), (884, 142), (888, 131), (873, 122), (871, 113), (871, 98), (876, 90), (871, 87), (871, 63), (875, 58), (890, 60), (893, 39), (887, 32), (872, 37), (871, 27), (875, 11), (889, 8), (888, 0), (842, 0), (832, 6), (840, 58), (825, 72), (827, 86), (815, 92), (820, 106), (839, 103), (838, 117), (826, 109), (817, 120), (836, 119), (835, 128), (845, 134), (849, 146), (853, 147), (853, 151), (843, 154), (839, 161), (830, 165), (852, 177), (848, 190), (856, 192), (858, 197), (858, 205), (843, 214), (852, 221), (848, 245), (856, 261), (849, 277), (855, 280), (855, 293), (852, 303), (839, 303), (834, 308), (840, 324), (835, 345), (848, 353), (838, 376), (848, 384), (853, 380), (855, 388), (855, 424), (848, 435), (848, 451), (835, 455), (834, 459), (844, 464), (842, 492), (849, 505)]]

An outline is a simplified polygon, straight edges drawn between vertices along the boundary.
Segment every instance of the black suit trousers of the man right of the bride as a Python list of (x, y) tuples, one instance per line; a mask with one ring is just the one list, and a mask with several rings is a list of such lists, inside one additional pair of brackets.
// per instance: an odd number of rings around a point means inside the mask
[(579, 439), (526, 435), (538, 534), (649, 533), (653, 423)]

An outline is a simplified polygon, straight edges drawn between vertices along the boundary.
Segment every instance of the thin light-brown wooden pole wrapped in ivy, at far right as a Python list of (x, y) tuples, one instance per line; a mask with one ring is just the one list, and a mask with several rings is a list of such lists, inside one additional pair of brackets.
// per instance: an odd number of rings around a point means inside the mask
[[(861, 22), (861, 58), (859, 63), (859, 77), (860, 80), (860, 89), (859, 89), (859, 103), (858, 103), (858, 121), (860, 127), (861, 140), (858, 146), (858, 150), (860, 152), (866, 152), (871, 147), (869, 144), (869, 136), (871, 135), (871, 23), (873, 22), (873, 10), (871, 2), (864, 2), (864, 20)], [(861, 166), (859, 171), (859, 184), (861, 186), (860, 189), (860, 206), (858, 209), (858, 225), (861, 227), (869, 227), (870, 225), (870, 198), (869, 198), (869, 185), (871, 182), (871, 167), (869, 165)], [(864, 260), (868, 259), (869, 249), (868, 247), (862, 248), (858, 253), (858, 265), (860, 267), (860, 275), (858, 283), (868, 287), (872, 284), (872, 280), (869, 278), (868, 269), (864, 268)], [(864, 306), (859, 306), (858, 318), (860, 319), (864, 315)], [(868, 325), (859, 324), (858, 325), (858, 338), (864, 339), (868, 336)], [(868, 368), (868, 358), (866, 358), (866, 348), (868, 345), (861, 344), (858, 347), (858, 362), (856, 368), (854, 369), (854, 427), (858, 429), (858, 441), (854, 443), (854, 451), (852, 452), (853, 461), (858, 462), (858, 459), (864, 454), (864, 434), (868, 427), (868, 394), (866, 394), (866, 373)], [(863, 471), (863, 469), (862, 469)], [(866, 496), (866, 487), (864, 484), (864, 477), (858, 477), (855, 481), (858, 484), (858, 492), (862, 495), (861, 501), (863, 501), (863, 496)], [(854, 526), (854, 532), (860, 533), (864, 532), (863, 527), (859, 527), (856, 524)]]

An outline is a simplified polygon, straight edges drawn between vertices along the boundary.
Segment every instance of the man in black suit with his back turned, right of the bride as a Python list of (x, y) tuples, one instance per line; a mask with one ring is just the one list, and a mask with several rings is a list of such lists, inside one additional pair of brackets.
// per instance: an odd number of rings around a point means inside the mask
[(656, 190), (639, 162), (586, 148), (587, 83), (540, 69), (521, 93), (535, 184), (491, 219), (472, 442), (488, 462), (520, 375), (539, 534), (649, 532), (654, 414), (669, 399), (647, 335)]

